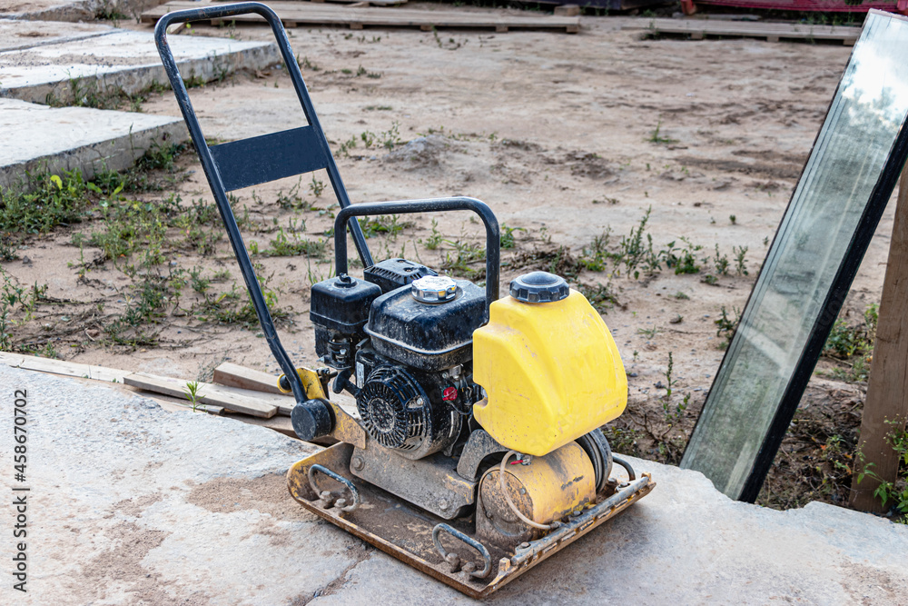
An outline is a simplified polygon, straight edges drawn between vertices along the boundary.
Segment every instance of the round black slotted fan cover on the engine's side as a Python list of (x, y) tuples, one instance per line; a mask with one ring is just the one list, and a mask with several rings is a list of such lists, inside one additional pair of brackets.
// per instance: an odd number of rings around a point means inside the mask
[(433, 406), (419, 381), (399, 366), (373, 370), (360, 387), (356, 408), (372, 440), (408, 459), (439, 452), (460, 432), (460, 415)]

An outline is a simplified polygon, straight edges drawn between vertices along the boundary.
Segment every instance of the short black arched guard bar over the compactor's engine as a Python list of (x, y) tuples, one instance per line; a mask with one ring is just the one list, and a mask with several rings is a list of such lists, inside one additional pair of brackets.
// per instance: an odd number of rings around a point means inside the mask
[[(334, 219), (334, 264), (335, 273), (347, 273), (347, 224), (350, 217), (373, 214), (439, 213), (443, 211), (473, 211), (479, 214), (486, 226), (486, 321), (489, 321), (489, 306), (498, 300), (498, 282), (501, 265), (501, 235), (498, 219), (489, 206), (477, 200), (459, 196), (455, 198), (434, 198), (431, 200), (407, 200), (399, 202), (370, 202), (348, 206)], [(354, 222), (355, 223), (355, 222)]]

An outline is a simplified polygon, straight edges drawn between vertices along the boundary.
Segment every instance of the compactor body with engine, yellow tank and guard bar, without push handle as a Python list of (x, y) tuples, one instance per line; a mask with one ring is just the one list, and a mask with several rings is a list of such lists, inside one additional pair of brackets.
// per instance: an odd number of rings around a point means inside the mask
[[(510, 551), (615, 491), (614, 457), (598, 428), (624, 410), (627, 378), (605, 323), (564, 279), (527, 273), (498, 299), (494, 215), (477, 200), (451, 200), (476, 211), (492, 234), (486, 288), (400, 258), (374, 263), (355, 278), (346, 272), (346, 242), (336, 237), (338, 275), (311, 289), (315, 349), (331, 369), (319, 381), (326, 395), (331, 385), (355, 399), (356, 418), (346, 425), (355, 422), (363, 435), (355, 443), (341, 432), (353, 444), (344, 472), (441, 520), (471, 526), (473, 539), (437, 525), (439, 552), (439, 532), (480, 553)], [(416, 204), (434, 210), (435, 202)], [(395, 210), (411, 209), (407, 203), (344, 209), (335, 233), (345, 233), (354, 213)], [(311, 376), (308, 384), (315, 382)], [(321, 425), (313, 413), (320, 402), (334, 412), (334, 420), (321, 415)], [(343, 414), (316, 398), (297, 405), (292, 420), (303, 439), (312, 439), (330, 434)], [(329, 478), (321, 478), (322, 487), (341, 482), (349, 489), (336, 469), (319, 466), (315, 475), (311, 469), (311, 495), (329, 509), (351, 506), (349, 495), (317, 486), (321, 472)], [(296, 488), (291, 480), (291, 492)]]

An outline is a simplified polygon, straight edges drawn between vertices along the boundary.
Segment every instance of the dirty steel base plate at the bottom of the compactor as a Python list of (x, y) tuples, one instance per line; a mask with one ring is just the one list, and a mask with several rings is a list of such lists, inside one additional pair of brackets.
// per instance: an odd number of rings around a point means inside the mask
[[(474, 536), (473, 522), (442, 520), (401, 501), (390, 492), (363, 482), (350, 473), (352, 452), (350, 444), (341, 442), (294, 463), (287, 472), (287, 484), (292, 497), (310, 512), (369, 541), (381, 551), (405, 561), (471, 598), (483, 598), (513, 581), (540, 561), (615, 517), (656, 486), (649, 474), (645, 473), (633, 482), (621, 484), (617, 492), (610, 495), (600, 493), (597, 495), (597, 504), (568, 518), (560, 528), (549, 531), (541, 539), (523, 543), (524, 547), (518, 546), (515, 551), (502, 551), (493, 545), (486, 545), (492, 559), (492, 570), (486, 579), (477, 579), (464, 571), (451, 572), (448, 562), (439, 555), (432, 542), (432, 531), (441, 522), (448, 523), (469, 537)], [(345, 499), (346, 503), (351, 502), (349, 489), (330, 476), (313, 473), (319, 492), (331, 492), (331, 497), (320, 499), (320, 494), (311, 489), (309, 482), (310, 467), (315, 464), (352, 482), (360, 494), (359, 507), (352, 512), (343, 512), (341, 508), (335, 507), (333, 502), (338, 498)], [(327, 497), (324, 494), (321, 496)], [(462, 561), (476, 561), (477, 570), (482, 569), (478, 554), (467, 545), (449, 537), (445, 543), (448, 551), (457, 551)]]

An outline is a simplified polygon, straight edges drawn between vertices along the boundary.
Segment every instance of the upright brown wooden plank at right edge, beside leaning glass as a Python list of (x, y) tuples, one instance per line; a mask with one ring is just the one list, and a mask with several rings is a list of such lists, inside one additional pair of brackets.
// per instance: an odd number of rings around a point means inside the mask
[[(908, 397), (905, 397), (908, 393), (908, 171), (902, 173), (896, 204), (858, 442), (858, 451), (864, 453), (864, 464), (873, 463), (873, 472), (887, 482), (895, 481), (899, 460), (886, 442), (886, 435), (903, 430), (908, 419)], [(851, 492), (854, 509), (882, 513), (883, 504), (873, 497), (879, 482), (864, 476), (864, 482), (858, 484), (858, 473), (864, 468), (857, 457), (854, 462)]]

